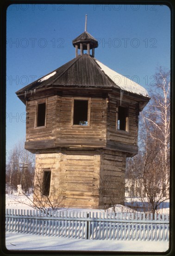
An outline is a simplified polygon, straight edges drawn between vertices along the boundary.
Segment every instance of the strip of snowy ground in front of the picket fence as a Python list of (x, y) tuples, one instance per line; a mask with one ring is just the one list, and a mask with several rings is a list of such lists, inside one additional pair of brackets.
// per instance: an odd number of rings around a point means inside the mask
[[(29, 234), (6, 233), (8, 250), (145, 251), (165, 252), (169, 242), (84, 240)], [(36, 239), (37, 238), (37, 239)]]

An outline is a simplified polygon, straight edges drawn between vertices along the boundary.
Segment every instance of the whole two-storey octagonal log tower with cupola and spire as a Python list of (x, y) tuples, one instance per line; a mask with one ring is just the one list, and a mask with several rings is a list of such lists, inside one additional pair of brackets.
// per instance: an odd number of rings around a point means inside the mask
[(36, 154), (34, 201), (102, 209), (123, 204), (126, 157), (137, 154), (147, 91), (94, 58), (97, 40), (73, 40), (75, 59), (16, 92), (26, 105), (25, 149)]

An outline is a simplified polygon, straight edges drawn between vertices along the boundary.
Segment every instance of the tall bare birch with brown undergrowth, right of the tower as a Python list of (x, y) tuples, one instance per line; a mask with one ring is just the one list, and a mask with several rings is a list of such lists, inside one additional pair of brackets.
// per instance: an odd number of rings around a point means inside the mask
[(169, 199), (170, 72), (159, 68), (151, 100), (140, 116), (139, 153), (129, 159), (127, 178), (137, 181), (137, 194), (153, 214)]

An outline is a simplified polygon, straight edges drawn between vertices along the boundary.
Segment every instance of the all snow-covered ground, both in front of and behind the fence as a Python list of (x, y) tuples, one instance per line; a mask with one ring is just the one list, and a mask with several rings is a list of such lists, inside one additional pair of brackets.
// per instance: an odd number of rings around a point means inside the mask
[[(6, 208), (8, 209), (33, 209), (32, 196), (6, 195)], [(99, 209), (63, 209), (69, 211), (94, 211), (104, 212)], [(108, 209), (108, 212), (113, 209)], [(169, 208), (167, 208), (167, 211)], [(129, 207), (115, 205), (115, 211), (134, 212)], [(37, 239), (36, 239), (37, 238)], [(165, 252), (169, 249), (169, 242), (144, 242), (144, 241), (116, 241), (116, 240), (84, 240), (51, 236), (36, 236), (30, 234), (17, 234), (6, 232), (6, 248), (8, 250), (69, 250), (69, 251), (145, 251)]]

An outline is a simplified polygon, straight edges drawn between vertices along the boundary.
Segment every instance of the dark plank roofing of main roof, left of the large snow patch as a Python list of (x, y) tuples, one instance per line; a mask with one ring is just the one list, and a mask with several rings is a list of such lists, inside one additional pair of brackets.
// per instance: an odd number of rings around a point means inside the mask
[(17, 95), (33, 89), (48, 87), (99, 87), (119, 88), (100, 68), (96, 60), (87, 54), (78, 55), (44, 77), (16, 92)]

